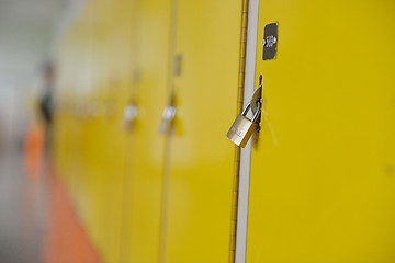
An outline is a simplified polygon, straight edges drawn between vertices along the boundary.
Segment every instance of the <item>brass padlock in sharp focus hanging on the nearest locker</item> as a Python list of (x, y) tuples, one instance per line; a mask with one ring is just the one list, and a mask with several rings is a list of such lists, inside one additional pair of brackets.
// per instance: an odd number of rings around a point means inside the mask
[(253, 130), (256, 130), (258, 126), (257, 121), (260, 115), (261, 102), (257, 102), (257, 111), (251, 119), (247, 117), (247, 113), (250, 108), (251, 102), (249, 102), (242, 110), (241, 114), (237, 116), (226, 135), (233, 142), (240, 147), (245, 147), (247, 145), (249, 138), (253, 134)]

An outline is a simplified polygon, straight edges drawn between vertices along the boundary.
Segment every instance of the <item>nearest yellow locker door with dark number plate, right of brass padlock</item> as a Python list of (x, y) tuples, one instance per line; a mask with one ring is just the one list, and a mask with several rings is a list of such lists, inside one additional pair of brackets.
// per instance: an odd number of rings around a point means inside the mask
[[(395, 260), (395, 3), (261, 0), (247, 262)], [(264, 26), (276, 57), (263, 60)]]

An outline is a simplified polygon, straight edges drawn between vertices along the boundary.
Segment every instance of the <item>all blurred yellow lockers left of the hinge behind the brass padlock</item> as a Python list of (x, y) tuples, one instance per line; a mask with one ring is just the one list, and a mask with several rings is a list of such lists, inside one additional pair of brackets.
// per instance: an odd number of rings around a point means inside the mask
[(91, 0), (66, 35), (57, 163), (104, 262), (230, 259), (241, 8)]

